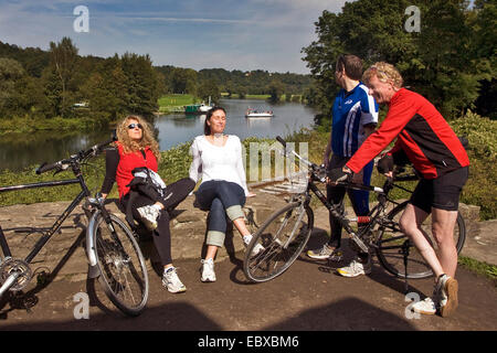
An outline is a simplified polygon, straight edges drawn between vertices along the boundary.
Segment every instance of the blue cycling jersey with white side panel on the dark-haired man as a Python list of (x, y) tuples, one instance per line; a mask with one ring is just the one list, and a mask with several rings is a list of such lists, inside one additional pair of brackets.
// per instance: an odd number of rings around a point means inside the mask
[(378, 124), (378, 104), (359, 83), (352, 90), (340, 89), (335, 98), (331, 126), (334, 154), (351, 157), (366, 139), (363, 127)]

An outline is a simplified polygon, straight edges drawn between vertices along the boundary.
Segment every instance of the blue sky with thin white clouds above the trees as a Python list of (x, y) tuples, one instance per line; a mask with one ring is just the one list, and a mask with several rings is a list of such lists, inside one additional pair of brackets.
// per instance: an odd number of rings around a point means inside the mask
[[(307, 74), (302, 49), (324, 10), (345, 0), (0, 0), (0, 41), (47, 50), (70, 36), (80, 55), (149, 54), (154, 65)], [(87, 32), (82, 12), (86, 7)]]

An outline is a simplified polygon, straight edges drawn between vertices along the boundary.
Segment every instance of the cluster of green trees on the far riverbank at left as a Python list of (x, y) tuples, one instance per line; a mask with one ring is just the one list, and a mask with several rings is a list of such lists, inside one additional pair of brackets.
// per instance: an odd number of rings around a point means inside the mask
[[(148, 55), (82, 57), (68, 38), (51, 42), (50, 52), (0, 43), (0, 75), (1, 133), (60, 126), (82, 130), (127, 114), (150, 117), (166, 90)], [(28, 117), (30, 127), (18, 125)], [(56, 117), (71, 121), (52, 121)], [(77, 120), (81, 125), (73, 124)]]

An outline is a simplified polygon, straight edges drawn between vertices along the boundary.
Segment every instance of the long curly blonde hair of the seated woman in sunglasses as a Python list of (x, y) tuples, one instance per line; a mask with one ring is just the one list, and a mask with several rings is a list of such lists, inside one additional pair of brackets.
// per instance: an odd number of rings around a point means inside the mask
[[(128, 136), (128, 125), (130, 120), (138, 121), (141, 125), (141, 140), (135, 141), (131, 140)], [(144, 150), (149, 147), (157, 158), (157, 162), (160, 160), (160, 150), (159, 143), (154, 138), (154, 133), (151, 132), (150, 125), (138, 115), (129, 115), (124, 118), (118, 125), (116, 129), (117, 140), (123, 146), (125, 153), (134, 153), (139, 150)]]

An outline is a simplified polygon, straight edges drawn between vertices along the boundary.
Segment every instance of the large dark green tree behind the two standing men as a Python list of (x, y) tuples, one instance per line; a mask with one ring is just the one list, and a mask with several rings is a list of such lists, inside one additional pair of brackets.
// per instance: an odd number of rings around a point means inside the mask
[[(358, 0), (338, 14), (324, 11), (315, 23), (318, 39), (303, 49), (314, 77), (309, 103), (326, 117), (338, 92), (334, 72), (338, 55), (355, 54), (364, 66), (394, 64), (404, 84), (424, 95), (446, 117), (482, 106), (490, 114), (495, 99), (496, 4), (464, 0)], [(406, 32), (409, 6), (421, 10), (421, 31)], [(483, 92), (482, 85), (486, 85)], [(478, 99), (478, 106), (475, 101)], [(477, 110), (478, 111), (478, 110)], [(495, 110), (494, 113), (495, 114)], [(319, 119), (318, 119), (319, 120)]]

